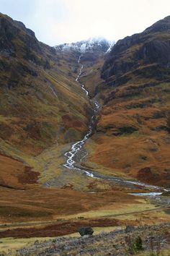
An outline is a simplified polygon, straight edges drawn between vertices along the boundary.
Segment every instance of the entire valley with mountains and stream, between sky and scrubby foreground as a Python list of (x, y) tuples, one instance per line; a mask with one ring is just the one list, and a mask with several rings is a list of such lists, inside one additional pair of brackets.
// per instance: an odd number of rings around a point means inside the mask
[(1, 238), (169, 223), (170, 57), (149, 43), (169, 42), (170, 18), (112, 48), (0, 28)]

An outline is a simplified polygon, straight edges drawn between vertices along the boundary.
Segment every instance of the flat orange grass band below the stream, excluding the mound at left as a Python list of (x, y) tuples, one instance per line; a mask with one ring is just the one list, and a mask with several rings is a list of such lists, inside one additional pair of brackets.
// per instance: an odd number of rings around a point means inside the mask
[[(48, 189), (39, 186), (32, 189), (1, 188), (1, 223), (10, 221), (36, 221), (69, 216), (102, 206), (118, 208), (135, 203), (135, 198), (124, 192), (109, 191), (89, 194), (71, 189)], [(121, 202), (121, 203), (120, 203)]]

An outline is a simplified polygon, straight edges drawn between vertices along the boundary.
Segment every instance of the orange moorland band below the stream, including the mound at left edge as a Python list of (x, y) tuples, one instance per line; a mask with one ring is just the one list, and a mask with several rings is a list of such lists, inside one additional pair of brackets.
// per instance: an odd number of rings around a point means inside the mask
[(66, 189), (42, 187), (38, 175), (24, 163), (0, 155), (0, 221), (50, 220), (56, 216), (97, 210), (106, 205), (135, 203), (135, 197), (119, 189), (90, 194)]

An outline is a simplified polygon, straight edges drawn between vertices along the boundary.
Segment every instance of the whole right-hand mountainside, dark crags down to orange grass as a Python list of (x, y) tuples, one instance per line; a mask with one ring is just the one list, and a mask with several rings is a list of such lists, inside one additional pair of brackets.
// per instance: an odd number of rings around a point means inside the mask
[(169, 186), (169, 65), (170, 17), (119, 40), (107, 54), (91, 164)]

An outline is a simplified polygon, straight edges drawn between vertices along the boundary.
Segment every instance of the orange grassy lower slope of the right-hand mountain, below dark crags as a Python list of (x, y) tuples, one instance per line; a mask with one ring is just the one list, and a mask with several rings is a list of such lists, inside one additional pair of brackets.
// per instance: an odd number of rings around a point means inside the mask
[[(151, 184), (169, 185), (170, 137), (166, 131), (166, 116), (161, 116), (167, 106), (125, 108), (132, 103), (131, 100), (124, 103), (115, 101), (102, 108), (97, 132), (86, 145), (89, 161), (117, 174)], [(148, 179), (140, 174), (143, 168), (151, 169)]]

